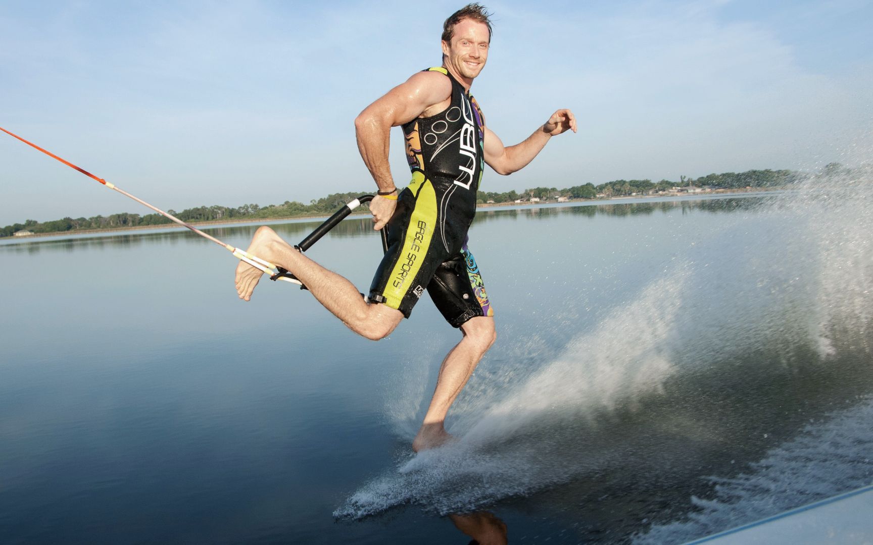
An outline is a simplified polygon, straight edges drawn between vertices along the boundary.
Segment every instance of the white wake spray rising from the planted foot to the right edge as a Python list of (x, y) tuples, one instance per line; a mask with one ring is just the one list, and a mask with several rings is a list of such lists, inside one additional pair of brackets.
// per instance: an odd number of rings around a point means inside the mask
[[(675, 378), (765, 349), (775, 358), (765, 365), (791, 368), (810, 349), (825, 364), (846, 330), (863, 337), (870, 324), (870, 180), (870, 173), (839, 183), (811, 178), (766, 205), (733, 212), (717, 232), (663, 263), (636, 299), (580, 331), (557, 357), (536, 362), (523, 380), (471, 381), (459, 401), (475, 394), (476, 402), (458, 404), (465, 411), (451, 429), (457, 443), (401, 460), (334, 515), (361, 518), (404, 504), (471, 511), (582, 479), (627, 460), (620, 439), (592, 439), (610, 413), (666, 395)], [(517, 348), (530, 364), (531, 344)], [(422, 373), (409, 375), (406, 391), (429, 393)], [(390, 413), (411, 437), (413, 411)]]

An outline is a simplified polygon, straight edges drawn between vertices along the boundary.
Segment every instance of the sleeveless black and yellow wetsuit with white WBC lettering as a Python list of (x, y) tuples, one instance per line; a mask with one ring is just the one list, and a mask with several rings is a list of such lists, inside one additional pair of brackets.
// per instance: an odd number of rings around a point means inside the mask
[(467, 229), (485, 168), (485, 121), (476, 100), (445, 68), (451, 103), (436, 115), (402, 126), (412, 181), (388, 221), (388, 252), (370, 286), (370, 301), (409, 317), (427, 290), (454, 327), (471, 317), (493, 316)]

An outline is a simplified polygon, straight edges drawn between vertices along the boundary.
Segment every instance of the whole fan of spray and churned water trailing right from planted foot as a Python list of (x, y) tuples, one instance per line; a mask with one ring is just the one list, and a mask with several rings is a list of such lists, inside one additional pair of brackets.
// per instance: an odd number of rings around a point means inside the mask
[[(754, 426), (734, 413), (753, 420), (774, 411), (787, 384), (774, 378), (800, 380), (794, 387), (812, 403), (822, 380), (843, 380), (843, 359), (861, 354), (869, 364), (871, 181), (869, 168), (809, 176), (733, 213), (556, 357), (533, 371), (510, 365), (503, 377), (474, 378), (452, 415), (459, 442), (402, 457), (334, 515), (410, 503), (438, 514), (471, 511), (618, 468), (693, 480), (699, 475), (684, 465), (705, 466), (731, 448), (763, 453), (754, 441), (731, 444)], [(531, 368), (531, 344), (507, 350)], [(418, 385), (410, 391), (421, 390), (421, 377), (410, 379)], [(716, 398), (734, 406), (705, 404)], [(411, 438), (412, 412), (390, 414)]]

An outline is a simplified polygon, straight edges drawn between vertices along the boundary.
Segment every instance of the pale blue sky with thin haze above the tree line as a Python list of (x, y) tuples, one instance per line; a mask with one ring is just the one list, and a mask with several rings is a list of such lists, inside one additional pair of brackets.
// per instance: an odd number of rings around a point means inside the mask
[[(484, 3), (488, 126), (580, 122), (485, 190), (873, 158), (873, 0)], [(164, 209), (368, 189), (354, 117), (439, 64), (461, 4), (7, 0), (0, 126)], [(0, 190), (0, 225), (148, 213), (2, 133)]]

